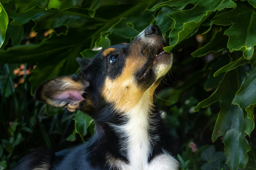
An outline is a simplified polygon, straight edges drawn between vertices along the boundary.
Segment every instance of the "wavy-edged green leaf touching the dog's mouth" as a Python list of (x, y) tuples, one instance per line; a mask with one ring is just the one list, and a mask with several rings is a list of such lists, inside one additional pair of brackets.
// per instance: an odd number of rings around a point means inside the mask
[(175, 21), (175, 28), (170, 32), (170, 46), (164, 50), (170, 52), (179, 42), (189, 36), (203, 21), (214, 11), (225, 7), (236, 7), (231, 0), (198, 0), (198, 4), (190, 10), (182, 10), (170, 13), (169, 16)]

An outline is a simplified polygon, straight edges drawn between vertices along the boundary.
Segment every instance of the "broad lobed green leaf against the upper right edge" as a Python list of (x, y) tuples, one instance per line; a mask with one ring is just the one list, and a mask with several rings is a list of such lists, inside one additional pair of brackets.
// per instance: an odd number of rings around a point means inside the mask
[(243, 56), (250, 59), (253, 46), (256, 45), (256, 13), (248, 4), (238, 4), (236, 8), (214, 17), (211, 21), (217, 25), (231, 25), (225, 31), (229, 36), (230, 52), (243, 51)]

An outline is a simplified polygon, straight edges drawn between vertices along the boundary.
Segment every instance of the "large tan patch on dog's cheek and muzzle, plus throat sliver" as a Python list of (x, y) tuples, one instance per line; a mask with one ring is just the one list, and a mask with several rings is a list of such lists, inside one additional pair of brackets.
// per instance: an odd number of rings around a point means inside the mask
[[(105, 100), (113, 103), (115, 109), (119, 111), (127, 112), (131, 110), (139, 102), (144, 93), (144, 91), (137, 86), (134, 74), (145, 64), (146, 59), (136, 56), (138, 56), (138, 54), (128, 56), (125, 67), (118, 78), (111, 80), (107, 77), (105, 80), (102, 94)], [(159, 83), (156, 83), (151, 87), (150, 97), (153, 98), (153, 92), (158, 84)]]

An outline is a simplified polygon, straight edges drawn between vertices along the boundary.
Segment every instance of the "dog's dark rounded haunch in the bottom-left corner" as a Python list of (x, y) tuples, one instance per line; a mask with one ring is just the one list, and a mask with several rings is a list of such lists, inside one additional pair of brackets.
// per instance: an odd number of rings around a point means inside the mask
[(50, 170), (55, 161), (52, 149), (40, 147), (23, 157), (13, 170)]

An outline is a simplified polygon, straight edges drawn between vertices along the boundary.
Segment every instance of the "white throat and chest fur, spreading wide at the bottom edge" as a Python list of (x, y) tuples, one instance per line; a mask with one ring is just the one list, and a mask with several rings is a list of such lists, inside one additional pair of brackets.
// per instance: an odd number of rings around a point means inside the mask
[(120, 136), (121, 152), (126, 153), (129, 163), (111, 159), (108, 164), (120, 170), (178, 170), (179, 163), (169, 153), (155, 157), (150, 163), (148, 158), (152, 154), (152, 144), (159, 140), (159, 136), (150, 136), (148, 131), (155, 129), (149, 125), (151, 120), (151, 101), (145, 92), (139, 103), (127, 113), (128, 122), (121, 126), (113, 126)]

